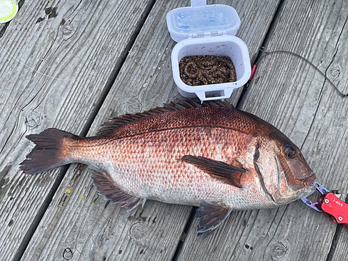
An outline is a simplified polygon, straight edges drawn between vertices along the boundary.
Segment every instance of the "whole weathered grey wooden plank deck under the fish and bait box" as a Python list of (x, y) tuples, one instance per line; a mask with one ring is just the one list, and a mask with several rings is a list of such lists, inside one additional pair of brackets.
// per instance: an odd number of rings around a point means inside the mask
[[(224, 1), (251, 63), (286, 50), (348, 93), (348, 3)], [(24, 1), (0, 27), (1, 260), (347, 260), (348, 231), (299, 200), (233, 212), (196, 236), (193, 208), (149, 201), (126, 212), (98, 196), (85, 166), (23, 175), (24, 138), (49, 127), (93, 135), (102, 122), (181, 99), (166, 14), (187, 0)], [(0, 34), (1, 35), (1, 34)], [(270, 54), (230, 102), (282, 130), (328, 189), (348, 191), (348, 97), (308, 63)], [(67, 191), (71, 192), (68, 193)], [(83, 198), (82, 198), (83, 196)]]

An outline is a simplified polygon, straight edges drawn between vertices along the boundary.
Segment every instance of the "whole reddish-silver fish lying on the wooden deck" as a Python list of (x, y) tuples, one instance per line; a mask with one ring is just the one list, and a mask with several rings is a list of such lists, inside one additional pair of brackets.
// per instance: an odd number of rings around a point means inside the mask
[(228, 102), (171, 102), (113, 118), (96, 136), (30, 134), (20, 169), (38, 174), (88, 165), (97, 192), (127, 211), (146, 200), (198, 207), (198, 235), (232, 210), (286, 205), (315, 191), (315, 174), (280, 130)]

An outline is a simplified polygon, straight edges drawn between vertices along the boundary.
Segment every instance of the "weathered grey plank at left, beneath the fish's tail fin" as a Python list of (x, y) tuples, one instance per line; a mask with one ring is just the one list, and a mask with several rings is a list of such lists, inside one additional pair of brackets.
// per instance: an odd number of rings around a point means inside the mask
[(84, 129), (151, 6), (26, 1), (10, 22), (0, 42), (1, 260), (18, 258), (61, 173), (22, 175), (19, 162), (33, 148), (24, 136), (48, 127)]

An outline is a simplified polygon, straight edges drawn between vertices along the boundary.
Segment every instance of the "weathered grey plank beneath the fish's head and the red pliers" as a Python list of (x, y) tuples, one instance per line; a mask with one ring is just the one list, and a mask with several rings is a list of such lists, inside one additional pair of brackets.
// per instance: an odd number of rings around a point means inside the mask
[[(347, 93), (347, 16), (345, 1), (283, 1), (265, 47), (308, 58)], [(347, 106), (348, 98), (289, 54), (270, 54), (260, 62), (242, 103), (243, 110), (271, 122), (299, 145), (318, 182), (342, 189), (343, 197), (348, 182)], [(277, 209), (235, 212), (203, 242), (196, 239), (196, 225), (178, 260), (326, 260), (335, 233), (327, 216), (299, 200)], [(338, 237), (332, 260), (347, 258), (345, 239)]]

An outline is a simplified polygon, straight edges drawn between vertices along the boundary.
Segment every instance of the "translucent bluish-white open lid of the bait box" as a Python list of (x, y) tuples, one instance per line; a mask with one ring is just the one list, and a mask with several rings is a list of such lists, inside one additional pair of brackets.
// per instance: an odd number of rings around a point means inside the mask
[(196, 33), (206, 35), (224, 31), (235, 35), (240, 25), (235, 8), (221, 4), (207, 6), (206, 0), (191, 0), (191, 7), (171, 10), (166, 19), (168, 31), (175, 42)]

